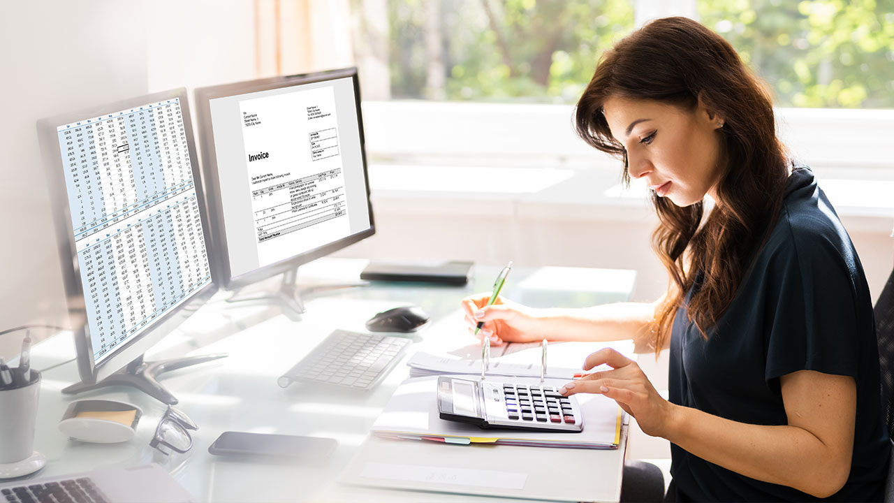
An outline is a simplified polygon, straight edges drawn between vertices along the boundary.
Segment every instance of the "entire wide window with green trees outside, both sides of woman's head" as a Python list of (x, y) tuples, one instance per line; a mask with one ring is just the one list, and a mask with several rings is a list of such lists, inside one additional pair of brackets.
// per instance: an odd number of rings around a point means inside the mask
[(637, 23), (695, 14), (771, 84), (780, 107), (894, 107), (894, 0), (353, 0), (352, 6), (361, 18), (353, 34), (361, 69), (370, 59), (387, 68), (387, 85), (368, 98), (574, 103), (603, 50), (633, 30), (635, 14)]

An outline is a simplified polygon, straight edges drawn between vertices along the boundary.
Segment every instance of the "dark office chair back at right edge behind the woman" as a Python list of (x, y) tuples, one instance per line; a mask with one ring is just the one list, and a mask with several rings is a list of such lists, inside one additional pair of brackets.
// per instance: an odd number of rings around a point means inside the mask
[[(879, 366), (881, 368), (881, 409), (885, 414), (888, 433), (894, 439), (894, 270), (888, 283), (875, 303), (875, 333), (879, 341)], [(894, 445), (894, 440), (892, 440)], [(885, 484), (885, 502), (894, 503), (894, 449), (888, 465), (888, 482)]]

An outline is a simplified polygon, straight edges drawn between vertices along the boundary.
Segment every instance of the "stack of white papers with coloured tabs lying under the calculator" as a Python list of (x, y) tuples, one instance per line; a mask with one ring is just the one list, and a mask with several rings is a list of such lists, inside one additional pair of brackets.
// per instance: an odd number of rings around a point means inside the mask
[[(539, 384), (540, 379), (513, 382)], [(560, 386), (564, 381), (547, 379)], [(435, 440), (451, 444), (490, 443), (561, 448), (617, 448), (623, 415), (620, 407), (602, 395), (577, 395), (584, 430), (579, 433), (521, 430), (483, 430), (463, 422), (444, 421), (437, 405), (437, 377), (405, 380), (373, 424), (375, 435), (390, 439)]]

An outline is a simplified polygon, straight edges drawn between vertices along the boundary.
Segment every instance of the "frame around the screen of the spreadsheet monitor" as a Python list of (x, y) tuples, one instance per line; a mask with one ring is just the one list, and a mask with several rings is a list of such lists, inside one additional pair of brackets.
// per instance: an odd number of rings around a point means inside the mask
[(187, 149), (190, 154), (190, 168), (196, 187), (199, 221), (202, 225), (209, 267), (213, 270), (214, 265), (211, 263), (212, 257), (209, 250), (209, 243), (211, 243), (210, 225), (207, 218), (205, 194), (201, 187), (201, 173), (198, 168), (195, 137), (192, 134), (192, 121), (190, 119), (190, 101), (186, 88), (165, 90), (137, 98), (122, 99), (114, 103), (47, 117), (38, 121), (38, 141), (44, 156), (43, 164), (46, 169), (46, 185), (53, 206), (56, 242), (65, 288), (65, 301), (74, 334), (78, 373), (81, 381), (85, 384), (92, 384), (105, 379), (115, 371), (119, 371), (127, 366), (130, 362), (137, 360), (149, 348), (178, 328), (183, 320), (189, 318), (192, 312), (196, 311), (202, 304), (207, 303), (208, 299), (217, 291), (217, 286), (212, 276), (212, 281), (188, 297), (185, 302), (149, 323), (139, 335), (132, 337), (123, 345), (115, 348), (112, 354), (109, 354), (101, 362), (97, 363), (93, 356), (93, 345), (90, 343), (89, 320), (86, 313), (87, 303), (80, 277), (78, 252), (74, 243), (72, 209), (69, 205), (68, 190), (63, 171), (62, 149), (59, 145), (56, 128), (63, 124), (72, 124), (101, 115), (113, 114), (127, 108), (141, 107), (148, 103), (173, 98), (179, 98), (181, 103), (183, 128), (186, 134)]

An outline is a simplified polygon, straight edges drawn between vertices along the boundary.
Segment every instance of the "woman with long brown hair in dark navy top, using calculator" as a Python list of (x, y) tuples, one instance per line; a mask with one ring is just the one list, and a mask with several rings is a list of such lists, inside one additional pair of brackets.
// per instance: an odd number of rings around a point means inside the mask
[[(670, 400), (606, 349), (566, 384), (671, 441), (668, 499), (881, 501), (890, 442), (860, 261), (811, 171), (786, 157), (771, 100), (723, 38), (653, 21), (596, 67), (578, 134), (645, 178), (671, 277), (655, 303), (533, 310), (463, 301), (493, 344), (632, 338), (671, 350)], [(704, 198), (714, 207), (705, 210)]]

